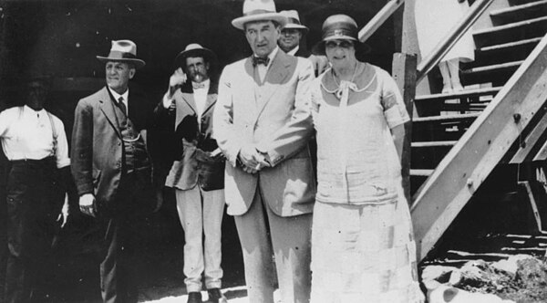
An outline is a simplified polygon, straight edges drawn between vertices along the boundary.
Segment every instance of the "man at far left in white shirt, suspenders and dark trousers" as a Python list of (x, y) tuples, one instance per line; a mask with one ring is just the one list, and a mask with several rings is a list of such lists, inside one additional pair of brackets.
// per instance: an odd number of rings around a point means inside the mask
[(63, 122), (44, 110), (50, 85), (49, 78), (29, 79), (21, 90), (27, 93), (25, 106), (0, 112), (0, 141), (8, 160), (6, 179), (0, 183), (5, 185), (3, 224), (9, 247), (1, 273), (5, 274), (2, 302), (46, 299), (55, 220), (61, 209), (64, 223), (67, 219), (67, 135)]

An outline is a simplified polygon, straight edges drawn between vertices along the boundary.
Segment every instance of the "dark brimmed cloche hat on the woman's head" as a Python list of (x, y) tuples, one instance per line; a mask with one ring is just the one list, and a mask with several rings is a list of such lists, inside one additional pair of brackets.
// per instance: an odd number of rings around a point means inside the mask
[(356, 20), (346, 15), (333, 15), (325, 19), (322, 26), (322, 39), (312, 47), (315, 55), (325, 55), (325, 43), (331, 40), (351, 40), (356, 52), (366, 54), (370, 47), (359, 41), (359, 30)]

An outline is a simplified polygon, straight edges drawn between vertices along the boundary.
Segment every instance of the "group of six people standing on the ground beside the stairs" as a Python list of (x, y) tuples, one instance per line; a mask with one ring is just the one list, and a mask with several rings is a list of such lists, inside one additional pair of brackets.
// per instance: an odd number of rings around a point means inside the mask
[[(137, 300), (132, 226), (160, 206), (152, 202), (163, 185), (175, 189), (189, 303), (202, 302), (203, 282), (208, 302), (227, 302), (224, 204), (240, 238), (250, 302), (273, 303), (276, 287), (284, 303), (424, 302), (400, 172), (409, 117), (388, 73), (356, 59), (367, 47), (355, 20), (326, 18), (312, 59), (298, 57), (307, 27), (295, 11), (278, 13), (273, 0), (245, 0), (232, 26), (253, 55), (216, 81), (212, 50), (188, 45), (155, 109), (129, 86), (145, 65), (136, 45), (112, 41), (108, 56), (98, 56), (106, 86), (77, 103), (70, 157), (62, 122), (39, 104), (0, 113), (12, 164), (6, 302), (32, 300), (41, 278), (36, 255), (46, 248), (36, 246), (46, 243), (36, 242), (36, 230), (55, 220), (60, 205), (36, 207), (50, 205), (51, 180), (74, 182), (80, 212), (101, 227), (104, 302)], [(161, 123), (172, 123), (177, 142), (165, 178), (152, 169), (147, 147), (147, 130)], [(308, 147), (314, 135), (316, 163)]]

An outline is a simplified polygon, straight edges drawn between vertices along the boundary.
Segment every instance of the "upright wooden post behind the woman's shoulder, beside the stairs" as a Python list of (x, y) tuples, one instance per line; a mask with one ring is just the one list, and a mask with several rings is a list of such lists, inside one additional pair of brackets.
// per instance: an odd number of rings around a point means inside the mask
[(392, 74), (397, 82), (405, 105), (407, 106), (410, 121), (405, 123), (405, 141), (401, 161), (403, 189), (408, 204), (412, 204), (410, 198), (410, 147), (412, 143), (412, 116), (414, 111), (414, 95), (416, 94), (416, 55), (396, 53), (393, 55)]

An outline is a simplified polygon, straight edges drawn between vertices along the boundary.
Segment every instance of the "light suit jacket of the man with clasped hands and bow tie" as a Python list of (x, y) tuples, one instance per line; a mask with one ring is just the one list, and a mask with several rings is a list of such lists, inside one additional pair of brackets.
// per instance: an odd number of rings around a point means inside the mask
[[(309, 60), (288, 56), (279, 49), (263, 85), (258, 83), (254, 72), (248, 57), (224, 68), (219, 82), (213, 126), (227, 159), (224, 193), (228, 213), (247, 212), (258, 187), (275, 214), (311, 213), (315, 180), (307, 141), (312, 130), (296, 136), (279, 136), (276, 131), (293, 115), (306, 112), (309, 104), (306, 95), (314, 79), (314, 68)], [(255, 174), (243, 172), (237, 163), (242, 147), (260, 145), (274, 136), (280, 140), (264, 146), (273, 151), (270, 159), (274, 167)]]

